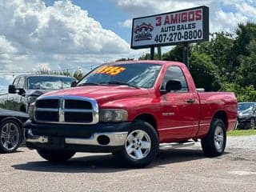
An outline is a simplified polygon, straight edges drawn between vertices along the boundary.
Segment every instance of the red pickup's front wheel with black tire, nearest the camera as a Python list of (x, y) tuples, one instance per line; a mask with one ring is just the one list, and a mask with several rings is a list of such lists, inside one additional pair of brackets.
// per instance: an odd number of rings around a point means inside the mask
[[(131, 139), (137, 141), (131, 141)], [(134, 121), (122, 150), (113, 153), (122, 166), (141, 168), (157, 157), (159, 150), (158, 134), (148, 122)], [(128, 152), (129, 151), (129, 152)]]

